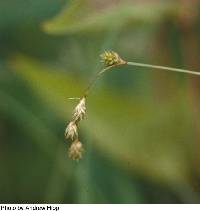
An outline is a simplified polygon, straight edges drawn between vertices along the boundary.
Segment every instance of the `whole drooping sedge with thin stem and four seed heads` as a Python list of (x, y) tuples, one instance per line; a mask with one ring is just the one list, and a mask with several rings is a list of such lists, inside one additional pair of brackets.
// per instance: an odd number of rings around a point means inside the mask
[(92, 86), (94, 85), (94, 83), (106, 71), (108, 71), (116, 66), (129, 65), (129, 66), (137, 66), (137, 67), (143, 67), (143, 68), (169, 70), (169, 71), (174, 71), (174, 72), (179, 72), (179, 73), (186, 73), (186, 74), (200, 76), (200, 72), (197, 72), (197, 71), (190, 71), (190, 70), (185, 70), (185, 69), (137, 63), (137, 62), (128, 62), (128, 61), (125, 61), (124, 59), (122, 59), (119, 56), (119, 54), (117, 54), (114, 51), (105, 51), (103, 54), (100, 55), (100, 57), (101, 57), (101, 61), (103, 62), (104, 67), (91, 80), (88, 87), (83, 92), (82, 97), (69, 98), (69, 99), (78, 99), (79, 100), (78, 104), (76, 105), (76, 107), (73, 111), (71, 121), (69, 122), (69, 124), (67, 125), (66, 130), (65, 130), (66, 139), (70, 139), (72, 141), (71, 146), (68, 150), (68, 154), (69, 154), (69, 157), (73, 160), (81, 159), (83, 152), (84, 152), (83, 144), (79, 140), (78, 126), (79, 126), (80, 121), (82, 121), (84, 119), (85, 114), (86, 114), (86, 98), (88, 97), (89, 92), (90, 92)]

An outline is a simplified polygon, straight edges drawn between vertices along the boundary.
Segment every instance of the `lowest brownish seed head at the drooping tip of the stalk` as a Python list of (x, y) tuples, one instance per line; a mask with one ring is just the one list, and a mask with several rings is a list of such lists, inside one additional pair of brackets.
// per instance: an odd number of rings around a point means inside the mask
[(77, 139), (71, 144), (68, 154), (72, 160), (80, 160), (82, 158), (83, 152), (84, 152), (83, 145)]

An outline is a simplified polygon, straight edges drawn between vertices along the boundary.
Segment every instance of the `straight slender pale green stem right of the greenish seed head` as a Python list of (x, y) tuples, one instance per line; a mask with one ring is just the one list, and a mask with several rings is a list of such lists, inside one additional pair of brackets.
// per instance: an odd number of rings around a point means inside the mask
[(173, 68), (173, 67), (164, 67), (164, 66), (159, 66), (159, 65), (150, 65), (150, 64), (143, 64), (143, 63), (137, 63), (137, 62), (127, 62), (126, 64), (137, 66), (137, 67), (149, 67), (149, 68), (155, 68), (155, 69), (170, 70), (170, 71), (180, 72), (180, 73), (188, 73), (192, 75), (200, 75), (200, 72)]

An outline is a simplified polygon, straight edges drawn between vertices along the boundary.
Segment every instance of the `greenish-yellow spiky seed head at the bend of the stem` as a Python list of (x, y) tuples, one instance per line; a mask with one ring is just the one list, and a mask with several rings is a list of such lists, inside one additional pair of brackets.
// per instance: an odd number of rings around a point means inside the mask
[(100, 55), (101, 61), (104, 63), (105, 67), (113, 66), (113, 65), (121, 65), (126, 62), (114, 51), (105, 51)]

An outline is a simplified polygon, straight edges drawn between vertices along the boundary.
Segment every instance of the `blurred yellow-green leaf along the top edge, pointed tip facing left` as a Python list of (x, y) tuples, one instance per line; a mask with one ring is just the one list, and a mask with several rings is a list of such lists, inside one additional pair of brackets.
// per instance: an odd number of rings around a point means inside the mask
[[(104, 2), (106, 5), (106, 2)], [(118, 3), (101, 8), (87, 0), (71, 1), (56, 17), (43, 23), (44, 30), (52, 34), (80, 31), (102, 31), (123, 24), (158, 23), (178, 11), (178, 5), (169, 2)], [(131, 26), (132, 27), (132, 26)]]

